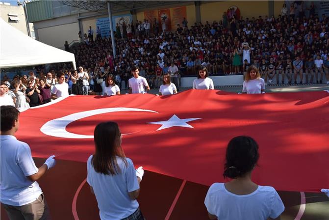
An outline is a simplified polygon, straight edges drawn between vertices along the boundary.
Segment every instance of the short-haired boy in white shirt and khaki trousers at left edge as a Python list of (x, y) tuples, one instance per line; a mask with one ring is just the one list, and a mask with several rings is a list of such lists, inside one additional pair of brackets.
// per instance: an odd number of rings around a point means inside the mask
[(28, 144), (15, 138), (20, 127), (19, 111), (1, 106), (1, 203), (11, 220), (50, 219), (48, 205), (36, 182), (55, 165), (54, 155), (37, 168)]

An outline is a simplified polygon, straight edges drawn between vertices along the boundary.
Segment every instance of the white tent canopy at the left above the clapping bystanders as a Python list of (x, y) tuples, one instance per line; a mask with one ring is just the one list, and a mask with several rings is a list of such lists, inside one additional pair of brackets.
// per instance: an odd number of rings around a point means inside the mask
[(47, 63), (72, 62), (74, 54), (33, 40), (0, 18), (0, 67), (34, 66)]

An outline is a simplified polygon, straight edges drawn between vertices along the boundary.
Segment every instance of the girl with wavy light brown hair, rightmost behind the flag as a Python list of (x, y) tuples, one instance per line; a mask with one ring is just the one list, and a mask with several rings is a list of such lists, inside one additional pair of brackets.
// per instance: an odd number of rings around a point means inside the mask
[(243, 82), (242, 93), (260, 94), (265, 93), (265, 82), (260, 77), (257, 67), (250, 66), (247, 69), (246, 79)]

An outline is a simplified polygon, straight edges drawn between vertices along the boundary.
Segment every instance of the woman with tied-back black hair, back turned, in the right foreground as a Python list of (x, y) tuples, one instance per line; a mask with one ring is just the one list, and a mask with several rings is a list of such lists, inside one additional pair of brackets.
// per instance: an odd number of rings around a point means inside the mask
[(251, 179), (258, 159), (258, 144), (253, 138), (240, 136), (229, 141), (223, 176), (231, 180), (210, 186), (204, 199), (209, 219), (280, 219), (284, 205), (278, 192)]

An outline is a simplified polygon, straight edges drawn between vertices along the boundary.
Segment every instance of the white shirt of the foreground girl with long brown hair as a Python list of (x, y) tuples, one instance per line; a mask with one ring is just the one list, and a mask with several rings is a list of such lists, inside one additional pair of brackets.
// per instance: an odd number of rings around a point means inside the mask
[(87, 182), (93, 187), (101, 220), (122, 220), (134, 213), (139, 204), (131, 200), (128, 192), (139, 189), (136, 170), (132, 161), (127, 159), (127, 166), (122, 158), (117, 157), (121, 172), (116, 175), (105, 175), (95, 171), (91, 160), (87, 161)]

